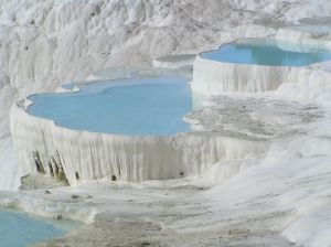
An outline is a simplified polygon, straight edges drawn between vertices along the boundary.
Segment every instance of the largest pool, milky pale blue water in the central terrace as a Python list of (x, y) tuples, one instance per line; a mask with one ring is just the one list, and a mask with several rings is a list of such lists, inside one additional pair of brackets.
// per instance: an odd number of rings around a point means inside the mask
[(79, 85), (76, 93), (38, 94), (28, 112), (93, 132), (169, 136), (188, 132), (192, 92), (183, 77), (117, 79)]

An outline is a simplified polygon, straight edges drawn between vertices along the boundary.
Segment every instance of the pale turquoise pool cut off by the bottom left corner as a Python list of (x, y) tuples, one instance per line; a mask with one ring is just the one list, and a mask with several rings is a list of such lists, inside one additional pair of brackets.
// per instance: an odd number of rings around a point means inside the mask
[(52, 223), (23, 213), (0, 210), (0, 246), (25, 247), (65, 235), (76, 224)]

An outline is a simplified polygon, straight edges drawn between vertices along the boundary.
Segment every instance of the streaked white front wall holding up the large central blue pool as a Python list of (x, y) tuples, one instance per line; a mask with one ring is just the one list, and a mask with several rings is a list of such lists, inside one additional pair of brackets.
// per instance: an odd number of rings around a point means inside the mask
[[(171, 137), (130, 137), (66, 129), (11, 109), (11, 131), (24, 173), (65, 173), (71, 184), (113, 178), (121, 181), (200, 175), (224, 160), (261, 155), (268, 143), (215, 132)], [(114, 176), (115, 175), (115, 176)]]

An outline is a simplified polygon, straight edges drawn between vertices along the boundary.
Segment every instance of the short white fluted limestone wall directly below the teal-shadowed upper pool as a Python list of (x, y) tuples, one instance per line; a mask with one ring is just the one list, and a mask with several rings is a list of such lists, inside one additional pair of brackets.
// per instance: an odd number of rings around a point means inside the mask
[(199, 56), (193, 65), (192, 89), (210, 96), (231, 92), (275, 90), (284, 83), (305, 83), (312, 72), (310, 67), (232, 64)]

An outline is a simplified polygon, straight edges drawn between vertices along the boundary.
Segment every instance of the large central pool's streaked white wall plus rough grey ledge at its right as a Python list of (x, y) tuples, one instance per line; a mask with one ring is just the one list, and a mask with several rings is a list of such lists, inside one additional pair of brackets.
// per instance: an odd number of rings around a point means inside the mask
[(11, 131), (24, 174), (63, 171), (71, 184), (114, 178), (142, 182), (202, 175), (223, 161), (243, 170), (241, 161), (265, 155), (270, 140), (298, 135), (301, 124), (321, 116), (314, 106), (277, 100), (224, 96), (209, 103), (186, 115), (191, 132), (137, 137), (60, 127), (28, 114), (23, 100), (11, 109)]

